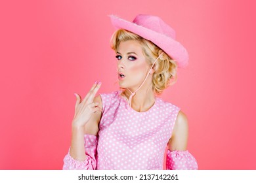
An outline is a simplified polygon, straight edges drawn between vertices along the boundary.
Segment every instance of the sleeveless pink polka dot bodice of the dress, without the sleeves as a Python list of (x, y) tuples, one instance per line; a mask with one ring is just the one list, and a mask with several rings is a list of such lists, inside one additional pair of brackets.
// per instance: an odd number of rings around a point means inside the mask
[(163, 154), (179, 108), (156, 97), (152, 108), (137, 112), (119, 92), (101, 94), (96, 169), (163, 169)]

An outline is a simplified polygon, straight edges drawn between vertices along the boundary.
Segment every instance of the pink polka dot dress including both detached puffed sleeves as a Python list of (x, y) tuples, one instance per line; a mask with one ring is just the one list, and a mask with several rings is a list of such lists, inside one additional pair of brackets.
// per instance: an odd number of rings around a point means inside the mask
[[(121, 91), (100, 94), (102, 118), (98, 136), (85, 135), (87, 159), (68, 154), (63, 169), (163, 169), (163, 155), (180, 108), (156, 97), (146, 112), (129, 109)], [(198, 169), (186, 151), (167, 150), (166, 169)]]

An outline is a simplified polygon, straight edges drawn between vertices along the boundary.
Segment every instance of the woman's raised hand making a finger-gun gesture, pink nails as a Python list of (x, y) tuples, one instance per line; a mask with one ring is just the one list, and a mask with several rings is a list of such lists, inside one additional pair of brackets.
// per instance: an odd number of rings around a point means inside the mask
[(76, 97), (76, 103), (75, 103), (75, 116), (72, 122), (72, 126), (74, 127), (84, 127), (87, 122), (89, 122), (91, 116), (94, 112), (100, 111), (101, 108), (98, 107), (98, 103), (94, 103), (93, 99), (95, 98), (96, 93), (98, 92), (98, 89), (101, 86), (101, 82), (95, 82), (93, 84), (93, 87), (87, 93), (83, 101), (81, 101), (80, 95), (77, 93), (75, 94)]

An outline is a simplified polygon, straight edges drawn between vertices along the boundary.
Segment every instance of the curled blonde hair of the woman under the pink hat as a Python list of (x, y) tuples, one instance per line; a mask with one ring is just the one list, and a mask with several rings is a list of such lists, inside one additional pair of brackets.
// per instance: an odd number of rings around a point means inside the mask
[[(153, 42), (125, 29), (118, 29), (114, 32), (110, 41), (111, 48), (117, 52), (120, 42), (129, 40), (137, 40), (140, 42), (146, 60), (148, 60), (150, 66), (152, 66), (156, 58), (163, 52), (163, 50)], [(167, 54), (163, 53), (160, 58), (158, 58), (158, 61), (156, 61), (153, 68), (155, 69), (152, 80), (153, 91), (156, 95), (159, 95), (165, 88), (176, 82), (177, 64)]]

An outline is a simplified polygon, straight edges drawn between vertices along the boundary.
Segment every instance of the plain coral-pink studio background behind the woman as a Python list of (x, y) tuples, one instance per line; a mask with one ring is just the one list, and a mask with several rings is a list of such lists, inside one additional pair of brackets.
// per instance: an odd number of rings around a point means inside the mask
[[(190, 64), (163, 99), (189, 120), (200, 169), (256, 169), (255, 4), (252, 1), (1, 1), (0, 169), (62, 169), (74, 92), (118, 90), (108, 14), (154, 14)], [(253, 145), (254, 144), (254, 145)]]

